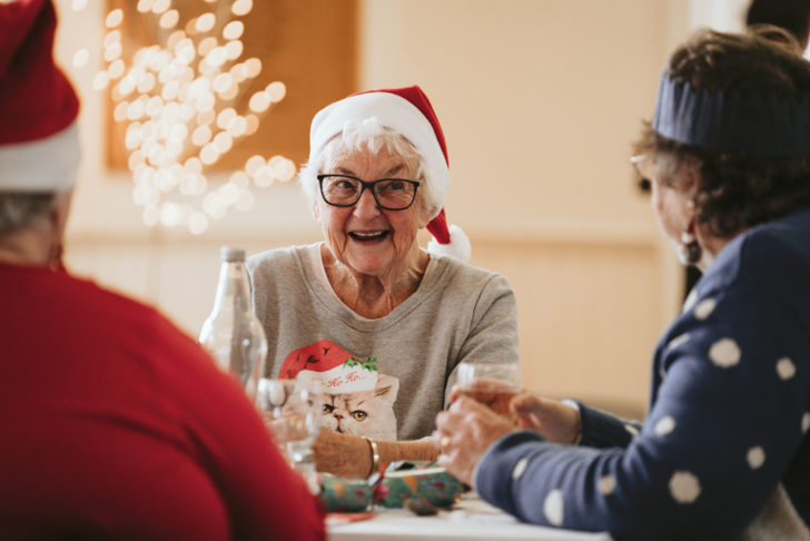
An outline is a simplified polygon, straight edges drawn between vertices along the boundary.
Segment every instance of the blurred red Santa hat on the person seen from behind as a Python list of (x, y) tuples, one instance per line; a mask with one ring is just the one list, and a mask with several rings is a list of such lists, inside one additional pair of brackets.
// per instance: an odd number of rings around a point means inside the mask
[(76, 183), (79, 99), (53, 61), (50, 0), (0, 1), (0, 191)]

